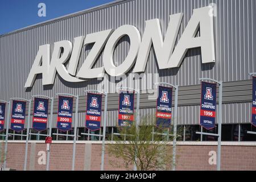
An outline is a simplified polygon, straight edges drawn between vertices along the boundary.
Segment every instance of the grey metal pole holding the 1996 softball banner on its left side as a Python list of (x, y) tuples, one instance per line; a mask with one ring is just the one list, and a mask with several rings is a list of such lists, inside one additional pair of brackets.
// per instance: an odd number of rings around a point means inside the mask
[(218, 154), (217, 171), (221, 169), (221, 123), (222, 123), (222, 81), (219, 82), (218, 90)]

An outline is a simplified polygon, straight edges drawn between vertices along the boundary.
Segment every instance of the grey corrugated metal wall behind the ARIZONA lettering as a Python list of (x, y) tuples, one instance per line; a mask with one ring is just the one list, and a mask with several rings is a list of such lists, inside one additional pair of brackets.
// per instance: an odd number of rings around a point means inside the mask
[[(193, 9), (215, 3), (217, 16), (214, 18), (214, 35), (216, 43), (216, 63), (201, 64), (200, 49), (191, 49), (180, 68), (159, 71), (154, 51), (151, 49), (146, 67), (146, 76), (142, 77), (141, 90), (154, 89), (154, 82), (170, 82), (183, 86), (179, 92), (179, 124), (196, 124), (199, 120), (200, 81), (199, 77), (211, 77), (222, 80), (224, 87), (224, 123), (249, 123), (251, 82), (249, 72), (256, 71), (255, 44), (256, 37), (256, 2), (254, 0), (134, 0), (119, 1), (105, 7), (84, 11), (65, 18), (25, 28), (11, 34), (0, 36), (0, 99), (11, 97), (31, 98), (35, 94), (54, 96), (55, 93), (72, 93), (84, 96), (84, 89), (97, 89), (108, 85), (109, 92), (114, 93), (116, 85), (134, 87), (132, 74), (118, 83), (110, 82), (106, 76), (104, 81), (90, 80), (74, 84), (60, 80), (56, 76), (53, 86), (42, 86), (42, 76), (38, 76), (32, 89), (24, 89), (30, 68), (38, 52), (39, 46), (60, 40), (70, 40), (81, 35), (91, 34), (110, 28), (116, 29), (123, 24), (131, 24), (143, 35), (144, 22), (159, 18), (163, 36), (166, 34), (169, 15), (184, 13), (178, 38), (182, 35)], [(116, 65), (122, 63), (129, 52), (129, 39), (124, 37), (114, 52)], [(79, 68), (89, 53), (90, 47), (81, 53)], [(102, 66), (102, 55), (95, 67)], [(130, 72), (129, 72), (130, 73)], [(152, 75), (150, 75), (152, 73)], [(159, 75), (154, 75), (158, 73)], [(153, 77), (157, 79), (154, 80)], [(108, 78), (108, 79), (107, 79)], [(246, 81), (247, 80), (247, 81)], [(234, 82), (233, 82), (234, 81)], [(230, 85), (230, 86), (229, 86)], [(226, 89), (226, 91), (225, 91)], [(147, 100), (142, 96), (141, 116), (154, 115), (155, 100)], [(56, 97), (57, 98), (57, 97)], [(83, 97), (81, 97), (83, 98)], [(113, 101), (117, 100), (113, 94)], [(80, 111), (83, 111), (85, 100), (81, 100)], [(115, 102), (108, 104), (108, 125), (117, 120)], [(56, 105), (56, 104), (55, 104)], [(85, 108), (84, 108), (85, 109)], [(84, 126), (84, 113), (79, 114), (79, 126)], [(53, 123), (53, 126), (56, 126)]]

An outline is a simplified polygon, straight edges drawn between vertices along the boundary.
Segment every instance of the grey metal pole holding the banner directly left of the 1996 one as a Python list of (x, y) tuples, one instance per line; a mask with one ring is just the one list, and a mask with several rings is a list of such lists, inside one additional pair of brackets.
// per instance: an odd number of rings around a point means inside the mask
[(175, 88), (175, 105), (174, 105), (174, 143), (172, 147), (172, 171), (175, 171), (176, 166), (176, 138), (177, 138), (177, 100), (179, 86)]

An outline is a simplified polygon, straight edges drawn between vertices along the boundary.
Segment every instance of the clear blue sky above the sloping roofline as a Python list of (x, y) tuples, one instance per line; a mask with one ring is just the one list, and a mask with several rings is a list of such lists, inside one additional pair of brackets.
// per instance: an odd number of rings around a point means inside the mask
[[(0, 35), (113, 2), (114, 0), (0, 0)], [(45, 3), (46, 17), (38, 16), (38, 4)]]

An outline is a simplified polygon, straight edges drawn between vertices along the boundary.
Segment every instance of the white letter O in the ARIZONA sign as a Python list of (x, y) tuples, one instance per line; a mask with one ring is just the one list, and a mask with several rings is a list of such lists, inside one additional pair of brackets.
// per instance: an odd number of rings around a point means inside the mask
[[(116, 67), (113, 63), (113, 53), (115, 45), (123, 36), (129, 36), (130, 38), (130, 49), (126, 56), (126, 59), (121, 65)], [(139, 46), (141, 44), (141, 35), (136, 27), (131, 25), (123, 25), (113, 32), (108, 42), (106, 43), (104, 54), (103, 54), (103, 65), (106, 72), (110, 76), (121, 76), (127, 73), (135, 63)]]

